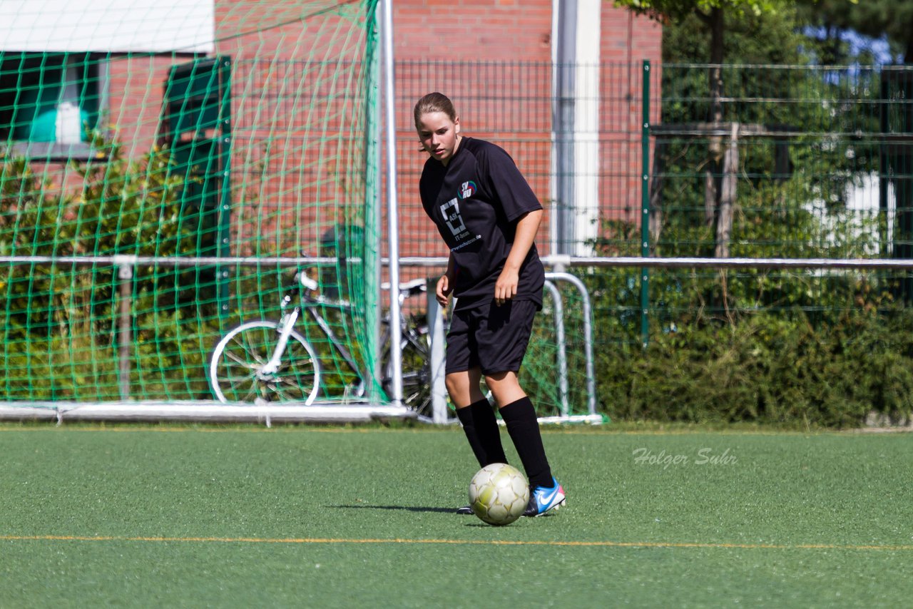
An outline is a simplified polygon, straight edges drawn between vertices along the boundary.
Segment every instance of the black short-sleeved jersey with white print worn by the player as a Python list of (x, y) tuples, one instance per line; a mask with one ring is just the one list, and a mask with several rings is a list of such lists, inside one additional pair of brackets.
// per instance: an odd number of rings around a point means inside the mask
[[(429, 158), (419, 181), (425, 213), (456, 262), (457, 309), (486, 304), (508, 259), (521, 215), (542, 208), (504, 149), (464, 137), (446, 167)], [(519, 269), (517, 300), (541, 307), (545, 272), (535, 244)]]

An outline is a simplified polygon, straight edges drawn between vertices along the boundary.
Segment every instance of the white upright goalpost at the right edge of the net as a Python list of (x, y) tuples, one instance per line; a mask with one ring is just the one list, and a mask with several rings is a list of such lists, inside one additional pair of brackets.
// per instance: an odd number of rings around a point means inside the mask
[(394, 11), (393, 0), (381, 0), (383, 7), (383, 105), (386, 116), (387, 153), (387, 245), (390, 248), (390, 363), (394, 405), (403, 403), (403, 350), (399, 341), (401, 316), (399, 300), (399, 212), (396, 204), (396, 113), (394, 110)]

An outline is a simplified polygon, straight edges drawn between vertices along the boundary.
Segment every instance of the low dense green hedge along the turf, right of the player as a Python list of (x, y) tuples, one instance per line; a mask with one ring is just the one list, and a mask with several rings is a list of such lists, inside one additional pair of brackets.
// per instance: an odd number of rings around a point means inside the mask
[(646, 349), (600, 350), (600, 403), (614, 419), (850, 427), (913, 412), (913, 311), (801, 310), (656, 333)]

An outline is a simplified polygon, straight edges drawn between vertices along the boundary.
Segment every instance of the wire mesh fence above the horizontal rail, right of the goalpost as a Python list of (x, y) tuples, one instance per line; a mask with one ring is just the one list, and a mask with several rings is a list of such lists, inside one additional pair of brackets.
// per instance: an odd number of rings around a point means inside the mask
[[(560, 69), (552, 64), (398, 63), (405, 209), (418, 205), (415, 184), (425, 160), (412, 128), (412, 103), (442, 89), (455, 100), (465, 133), (508, 149), (550, 206), (552, 222), (554, 212), (565, 207), (585, 213), (573, 197), (556, 198), (556, 183), (593, 177), (584, 172), (589, 165), (581, 154), (570, 152), (571, 164), (554, 158), (559, 144), (582, 138), (593, 144), (599, 162), (595, 237), (564, 244), (552, 232), (547, 244), (552, 253), (571, 246), (607, 255), (640, 253), (636, 227), (644, 206), (645, 151), (654, 255), (890, 256), (895, 248), (908, 247), (905, 217), (895, 222), (889, 215), (905, 215), (910, 205), (913, 68), (651, 68), (648, 63), (584, 68), (598, 75), (594, 97), (571, 102), (593, 106), (598, 129), (592, 132), (558, 120), (569, 101), (551, 87)], [(718, 91), (709, 85), (711, 72), (722, 82)], [(497, 85), (478, 88), (479, 81)], [(647, 131), (644, 119), (650, 122)], [(790, 222), (768, 226), (763, 234), (733, 233), (732, 205), (748, 214), (776, 208), (787, 219), (807, 213), (821, 226), (809, 236), (786, 230)], [(882, 232), (871, 236), (877, 243), (864, 242), (861, 233), (874, 230), (868, 224), (879, 219)], [(713, 235), (705, 235), (708, 226)], [(749, 251), (752, 247), (759, 249)]]

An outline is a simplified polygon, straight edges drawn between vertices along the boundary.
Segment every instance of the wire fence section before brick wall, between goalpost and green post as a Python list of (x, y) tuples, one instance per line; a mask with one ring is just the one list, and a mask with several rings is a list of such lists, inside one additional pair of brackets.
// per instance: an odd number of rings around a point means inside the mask
[[(554, 86), (573, 70), (587, 97)], [(547, 253), (592, 253), (599, 218), (636, 223), (640, 209), (640, 64), (561, 66), (541, 62), (396, 64), (398, 171), (404, 229), (418, 236), (404, 256), (438, 247), (417, 194), (426, 155), (413, 126), (413, 104), (440, 90), (455, 103), (463, 133), (505, 148), (549, 210), (540, 233)], [(412, 218), (418, 218), (415, 222)], [(635, 250), (639, 252), (639, 249)]]

